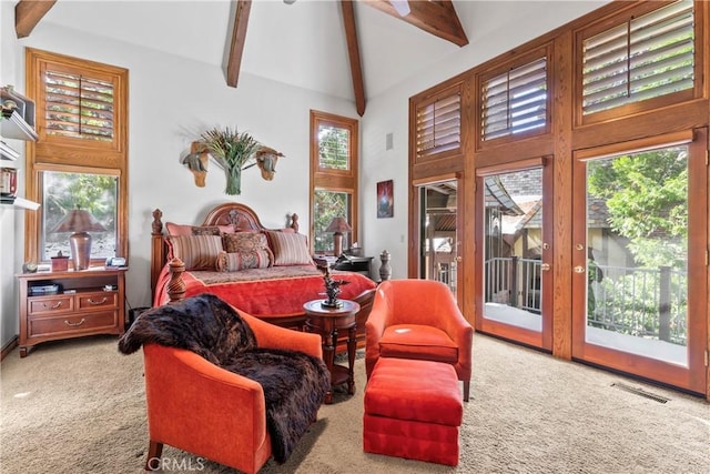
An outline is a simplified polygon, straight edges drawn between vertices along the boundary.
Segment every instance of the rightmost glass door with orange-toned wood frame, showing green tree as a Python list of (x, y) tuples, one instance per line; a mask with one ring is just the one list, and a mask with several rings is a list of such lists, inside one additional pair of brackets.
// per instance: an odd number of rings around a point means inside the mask
[(576, 160), (572, 356), (704, 393), (707, 137), (690, 138)]

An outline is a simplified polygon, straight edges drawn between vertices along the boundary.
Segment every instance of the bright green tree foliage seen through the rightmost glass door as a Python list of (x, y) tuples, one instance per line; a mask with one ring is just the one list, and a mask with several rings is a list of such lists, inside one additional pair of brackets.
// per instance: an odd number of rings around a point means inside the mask
[(684, 148), (669, 148), (589, 162), (589, 193), (606, 201), (611, 229), (642, 265), (684, 265), (687, 161)]

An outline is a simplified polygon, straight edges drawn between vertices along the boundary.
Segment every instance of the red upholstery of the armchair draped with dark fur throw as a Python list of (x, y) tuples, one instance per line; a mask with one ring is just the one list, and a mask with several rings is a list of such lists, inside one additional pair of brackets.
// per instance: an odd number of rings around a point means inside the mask
[[(240, 314), (260, 347), (323, 356), (317, 334)], [(143, 357), (150, 435), (146, 471), (160, 468), (163, 444), (245, 473), (256, 473), (266, 463), (272, 445), (258, 383), (182, 349), (150, 343), (143, 346)]]

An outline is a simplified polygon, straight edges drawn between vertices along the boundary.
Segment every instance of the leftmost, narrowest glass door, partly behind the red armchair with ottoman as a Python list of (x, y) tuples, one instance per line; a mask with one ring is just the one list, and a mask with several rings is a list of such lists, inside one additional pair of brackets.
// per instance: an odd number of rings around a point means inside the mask
[(458, 180), (419, 186), (419, 278), (445, 283), (458, 294)]

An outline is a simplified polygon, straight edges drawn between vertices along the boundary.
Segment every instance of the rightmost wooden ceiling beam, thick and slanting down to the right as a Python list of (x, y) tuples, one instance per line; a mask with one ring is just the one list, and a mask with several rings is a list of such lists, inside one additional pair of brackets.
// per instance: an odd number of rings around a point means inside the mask
[(361, 0), (402, 21), (445, 39), (459, 47), (468, 44), (468, 38), (454, 9), (452, 0), (420, 1), (409, 0), (410, 13), (402, 17), (387, 0)]

